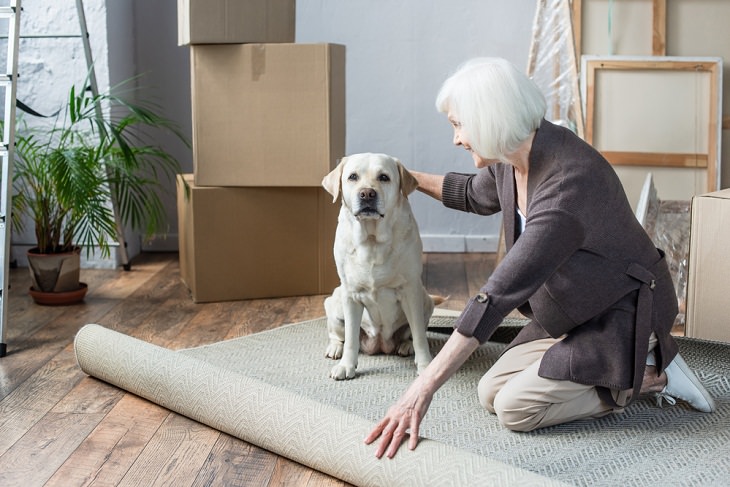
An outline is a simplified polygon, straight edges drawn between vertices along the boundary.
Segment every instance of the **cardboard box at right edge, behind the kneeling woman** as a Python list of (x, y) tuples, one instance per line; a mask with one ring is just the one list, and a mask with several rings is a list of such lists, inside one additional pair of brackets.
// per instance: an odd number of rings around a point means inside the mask
[(730, 189), (692, 199), (686, 335), (730, 342)]

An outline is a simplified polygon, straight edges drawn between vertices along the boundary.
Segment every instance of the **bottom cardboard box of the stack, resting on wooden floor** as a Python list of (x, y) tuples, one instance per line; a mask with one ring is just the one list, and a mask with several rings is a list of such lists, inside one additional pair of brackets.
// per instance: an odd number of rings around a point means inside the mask
[(191, 174), (177, 187), (180, 275), (193, 301), (330, 294), (339, 285), (340, 205), (324, 189), (199, 187)]

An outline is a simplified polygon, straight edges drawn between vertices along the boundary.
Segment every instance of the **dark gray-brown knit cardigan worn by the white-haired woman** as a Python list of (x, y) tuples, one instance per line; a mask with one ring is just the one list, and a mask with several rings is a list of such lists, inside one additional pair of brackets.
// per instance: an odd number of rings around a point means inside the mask
[(543, 120), (529, 164), (527, 223), (517, 239), (511, 165), (444, 178), (447, 207), (503, 212), (507, 248), (481, 289), (487, 298), (471, 298), (455, 327), (483, 343), (520, 309), (532, 320), (511, 346), (567, 334), (545, 354), (542, 377), (638, 388), (652, 331), (659, 370), (677, 353), (670, 335), (677, 298), (663, 253), (638, 223), (611, 165), (571, 131)]

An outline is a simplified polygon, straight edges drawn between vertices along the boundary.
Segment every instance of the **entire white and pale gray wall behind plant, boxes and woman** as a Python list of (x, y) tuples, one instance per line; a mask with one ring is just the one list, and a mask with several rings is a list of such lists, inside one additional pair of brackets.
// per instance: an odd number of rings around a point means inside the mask
[[(78, 32), (74, 0), (23, 4), (23, 34)], [(177, 46), (175, 0), (85, 5), (101, 89), (144, 74), (139, 83), (145, 97), (190, 135), (189, 58), (188, 49)], [(526, 66), (534, 9), (535, 0), (299, 0), (297, 42), (347, 46), (348, 153), (387, 152), (422, 171), (472, 171), (471, 158), (452, 145), (450, 126), (436, 112), (436, 93), (473, 56), (502, 56)], [(85, 74), (80, 46), (78, 39), (25, 41), (20, 98), (44, 112), (60, 106), (69, 80)], [(189, 150), (161, 141), (192, 171)], [(171, 185), (165, 199), (168, 238), (143, 248), (177, 248), (174, 190)], [(458, 214), (421, 194), (412, 205), (427, 251), (496, 249), (501, 217)]]

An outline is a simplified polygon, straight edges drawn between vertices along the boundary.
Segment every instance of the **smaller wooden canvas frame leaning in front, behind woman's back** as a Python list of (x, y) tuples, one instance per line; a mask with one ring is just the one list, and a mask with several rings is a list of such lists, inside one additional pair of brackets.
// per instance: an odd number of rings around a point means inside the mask
[[(601, 150), (601, 153), (612, 164), (695, 167), (707, 169), (708, 191), (717, 191), (720, 182), (720, 136), (722, 129), (722, 60), (720, 58), (683, 58), (683, 57), (632, 57), (632, 56), (583, 56), (582, 91), (585, 103), (585, 139), (589, 144), (595, 140), (595, 114), (597, 73), (601, 70), (615, 72), (707, 72), (709, 76), (709, 107), (707, 121), (706, 152), (671, 153), (655, 151), (617, 151)], [(677, 93), (676, 96), (681, 96)], [(669, 100), (671, 102), (671, 100)], [(671, 103), (668, 103), (671, 104)], [(600, 148), (599, 148), (600, 150)]]

